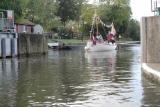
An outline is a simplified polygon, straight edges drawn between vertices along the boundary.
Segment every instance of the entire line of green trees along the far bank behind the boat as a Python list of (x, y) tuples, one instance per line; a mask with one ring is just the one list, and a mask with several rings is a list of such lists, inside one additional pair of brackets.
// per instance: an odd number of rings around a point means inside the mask
[[(104, 23), (114, 23), (117, 37), (139, 40), (139, 22), (132, 19), (130, 0), (1, 0), (0, 9), (14, 10), (15, 19), (41, 24), (45, 31), (78, 32), (89, 36), (94, 10)], [(109, 30), (99, 24), (103, 35)]]

